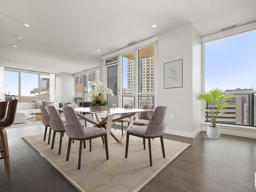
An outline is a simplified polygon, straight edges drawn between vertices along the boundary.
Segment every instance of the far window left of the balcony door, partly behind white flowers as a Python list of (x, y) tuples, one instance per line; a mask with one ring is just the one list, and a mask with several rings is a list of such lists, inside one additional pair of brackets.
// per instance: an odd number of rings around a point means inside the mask
[(87, 95), (91, 90), (91, 83), (100, 80), (100, 70), (91, 71), (75, 78), (75, 103), (79, 106), (82, 101), (91, 101)]

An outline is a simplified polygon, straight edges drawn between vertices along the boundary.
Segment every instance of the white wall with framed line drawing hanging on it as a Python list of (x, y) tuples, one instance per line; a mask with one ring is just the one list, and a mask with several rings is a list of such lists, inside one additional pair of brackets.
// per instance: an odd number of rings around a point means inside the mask
[[(157, 103), (168, 106), (166, 133), (193, 138), (201, 131), (201, 102), (196, 100), (202, 88), (201, 54), (201, 37), (193, 24), (158, 35)], [(183, 88), (164, 89), (163, 63), (177, 59), (183, 59)]]

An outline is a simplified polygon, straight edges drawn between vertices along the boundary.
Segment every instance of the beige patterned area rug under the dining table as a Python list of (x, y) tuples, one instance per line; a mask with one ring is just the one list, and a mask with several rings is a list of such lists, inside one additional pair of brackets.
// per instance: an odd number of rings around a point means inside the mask
[[(113, 132), (120, 137), (120, 130)], [(87, 148), (82, 150), (81, 169), (78, 170), (79, 141), (72, 143), (70, 159), (66, 161), (68, 137), (63, 138), (61, 155), (58, 155), (59, 134), (56, 134), (53, 150), (51, 145), (42, 141), (43, 137), (40, 134), (24, 139), (79, 191), (139, 191), (189, 146), (188, 143), (164, 139), (166, 158), (163, 158), (160, 138), (152, 140), (151, 167), (147, 141), (146, 150), (143, 150), (142, 139), (130, 136), (128, 158), (124, 158), (125, 141), (117, 143), (111, 137), (110, 158), (106, 160), (101, 138), (95, 138), (92, 139), (92, 152), (89, 152), (89, 141)]]

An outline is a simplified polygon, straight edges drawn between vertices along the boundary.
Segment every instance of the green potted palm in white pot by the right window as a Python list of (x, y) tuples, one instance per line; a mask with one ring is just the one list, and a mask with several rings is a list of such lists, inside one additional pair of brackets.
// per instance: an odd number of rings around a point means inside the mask
[(211, 139), (220, 138), (220, 127), (216, 125), (217, 118), (223, 114), (223, 110), (227, 108), (226, 101), (232, 99), (234, 95), (223, 94), (219, 88), (214, 88), (209, 93), (201, 93), (197, 96), (197, 100), (205, 101), (207, 104), (206, 109), (202, 109), (208, 114), (209, 122), (207, 127), (207, 136)]

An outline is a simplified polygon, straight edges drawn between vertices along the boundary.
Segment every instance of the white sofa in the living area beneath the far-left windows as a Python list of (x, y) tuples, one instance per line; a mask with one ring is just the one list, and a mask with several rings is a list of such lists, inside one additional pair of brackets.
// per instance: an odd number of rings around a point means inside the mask
[(18, 102), (13, 123), (25, 123), (27, 119), (34, 118), (35, 115), (31, 113), (41, 113), (35, 102)]

